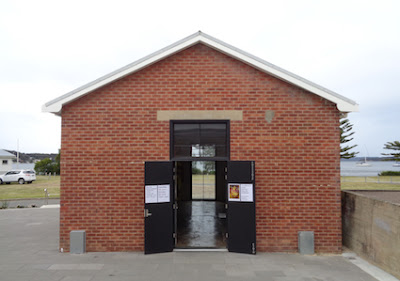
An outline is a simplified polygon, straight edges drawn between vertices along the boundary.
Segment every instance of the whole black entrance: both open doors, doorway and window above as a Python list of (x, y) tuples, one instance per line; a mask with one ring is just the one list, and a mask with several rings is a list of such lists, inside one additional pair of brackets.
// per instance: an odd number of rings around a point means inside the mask
[[(230, 161), (229, 124), (170, 121), (171, 161), (145, 164), (146, 253), (173, 248), (256, 253), (255, 164)], [(228, 182), (241, 192), (239, 198), (231, 192), (228, 200)]]

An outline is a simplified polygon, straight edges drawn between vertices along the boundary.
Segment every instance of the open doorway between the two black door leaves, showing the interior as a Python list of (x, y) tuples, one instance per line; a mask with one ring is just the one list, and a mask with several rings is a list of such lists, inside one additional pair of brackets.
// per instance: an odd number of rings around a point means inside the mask
[(176, 248), (226, 248), (226, 165), (176, 162)]

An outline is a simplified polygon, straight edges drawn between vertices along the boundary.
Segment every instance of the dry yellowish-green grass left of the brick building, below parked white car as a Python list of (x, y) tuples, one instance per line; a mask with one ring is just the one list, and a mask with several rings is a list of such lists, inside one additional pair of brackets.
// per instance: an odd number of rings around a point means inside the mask
[(3, 183), (0, 185), (0, 200), (44, 198), (45, 188), (49, 198), (60, 197), (60, 176), (36, 176), (36, 181), (31, 184)]

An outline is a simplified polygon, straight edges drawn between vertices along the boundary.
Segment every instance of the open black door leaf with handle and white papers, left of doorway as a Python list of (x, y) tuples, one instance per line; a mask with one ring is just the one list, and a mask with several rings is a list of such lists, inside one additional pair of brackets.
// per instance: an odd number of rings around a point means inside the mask
[(144, 252), (174, 248), (173, 162), (145, 163)]

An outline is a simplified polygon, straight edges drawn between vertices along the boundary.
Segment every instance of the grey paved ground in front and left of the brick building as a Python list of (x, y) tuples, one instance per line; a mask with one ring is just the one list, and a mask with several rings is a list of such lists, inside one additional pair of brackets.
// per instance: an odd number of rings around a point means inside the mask
[(0, 280), (376, 281), (342, 256), (58, 252), (59, 209), (0, 210)]

